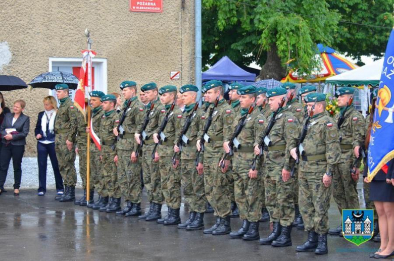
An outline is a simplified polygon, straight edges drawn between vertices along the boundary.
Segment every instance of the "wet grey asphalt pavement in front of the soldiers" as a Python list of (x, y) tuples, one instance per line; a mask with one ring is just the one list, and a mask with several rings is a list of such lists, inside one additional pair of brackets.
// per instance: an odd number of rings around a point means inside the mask
[[(379, 247), (372, 240), (358, 247), (329, 236), (327, 255), (297, 253), (295, 246), (307, 238), (297, 229), (292, 231), (292, 246), (274, 248), (61, 203), (54, 200), (54, 190), (45, 196), (23, 188), (20, 196), (8, 191), (0, 196), (0, 260), (371, 260), (369, 253)], [(77, 193), (79, 197), (81, 189)], [(146, 206), (146, 197), (143, 203)], [(166, 212), (163, 206), (162, 215)], [(182, 220), (188, 216), (183, 203), (181, 215)], [(336, 227), (340, 216), (333, 201), (329, 215)], [(206, 227), (214, 222), (213, 214), (206, 214)], [(233, 230), (239, 225), (239, 219), (231, 219)], [(269, 223), (260, 223), (260, 236), (269, 233)]]

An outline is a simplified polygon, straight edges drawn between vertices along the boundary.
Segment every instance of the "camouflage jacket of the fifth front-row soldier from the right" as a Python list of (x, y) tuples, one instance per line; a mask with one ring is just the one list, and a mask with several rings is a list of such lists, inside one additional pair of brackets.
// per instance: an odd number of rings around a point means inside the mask
[[(190, 116), (192, 112), (193, 110), (190, 110), (189, 112), (186, 112), (185, 110), (183, 112), (181, 120), (176, 122), (178, 126), (176, 126), (175, 142), (179, 140), (183, 126), (186, 124), (186, 119)], [(196, 158), (195, 144), (197, 143), (197, 140), (200, 138), (198, 136), (200, 130), (203, 131), (202, 129), (204, 128), (204, 122), (205, 122), (205, 113), (203, 109), (199, 108), (194, 112), (194, 115), (191, 118), (190, 126), (187, 132), (185, 133), (185, 136), (189, 139), (189, 144), (188, 145), (183, 144), (182, 152), (181, 152), (181, 160), (195, 160)], [(204, 152), (200, 153), (201, 163), (203, 163), (203, 159), (204, 159), (203, 154)]]

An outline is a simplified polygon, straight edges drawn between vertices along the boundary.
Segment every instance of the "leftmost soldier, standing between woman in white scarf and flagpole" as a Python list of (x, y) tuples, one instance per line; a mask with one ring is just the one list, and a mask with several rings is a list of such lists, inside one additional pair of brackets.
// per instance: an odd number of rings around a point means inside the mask
[(77, 183), (77, 172), (75, 170), (75, 139), (77, 133), (77, 109), (69, 98), (69, 87), (67, 84), (55, 86), (56, 96), (60, 107), (55, 118), (55, 151), (59, 161), (59, 170), (63, 178), (65, 192), (55, 199), (60, 202), (75, 200), (75, 185)]

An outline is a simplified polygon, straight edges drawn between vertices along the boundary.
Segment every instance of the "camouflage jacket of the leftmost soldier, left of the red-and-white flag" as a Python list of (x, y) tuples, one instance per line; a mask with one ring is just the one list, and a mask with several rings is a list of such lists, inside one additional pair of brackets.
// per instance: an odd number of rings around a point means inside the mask
[(57, 133), (56, 139), (59, 141), (66, 140), (75, 142), (76, 134), (77, 134), (77, 109), (74, 108), (74, 105), (69, 97), (61, 103), (59, 106), (58, 112), (56, 113), (55, 118), (55, 133)]

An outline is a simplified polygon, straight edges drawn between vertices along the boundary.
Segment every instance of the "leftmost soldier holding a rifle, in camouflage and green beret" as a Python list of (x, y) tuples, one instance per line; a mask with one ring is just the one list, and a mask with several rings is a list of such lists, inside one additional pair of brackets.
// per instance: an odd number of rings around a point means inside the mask
[[(118, 183), (125, 200), (122, 210), (116, 215), (133, 217), (141, 215), (141, 160), (135, 156), (135, 128), (142, 120), (144, 106), (137, 99), (137, 84), (134, 81), (124, 81), (120, 84), (125, 102), (121, 109), (120, 118), (126, 109), (123, 124), (114, 128), (114, 134), (119, 138), (116, 143), (118, 162)], [(130, 106), (128, 106), (129, 101)], [(119, 121), (120, 121), (119, 118)]]

